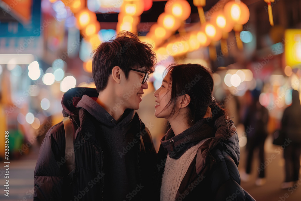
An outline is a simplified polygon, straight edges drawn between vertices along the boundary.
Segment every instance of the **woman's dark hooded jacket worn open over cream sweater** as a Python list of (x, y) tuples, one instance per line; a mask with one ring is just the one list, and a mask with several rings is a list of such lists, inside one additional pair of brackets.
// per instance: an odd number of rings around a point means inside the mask
[(223, 116), (217, 119), (203, 118), (177, 136), (169, 129), (161, 139), (157, 155), (157, 200), (160, 199), (160, 190), (163, 190), (161, 179), (167, 153), (169, 157), (178, 159), (191, 146), (207, 138), (198, 148), (175, 200), (254, 200), (240, 187), (237, 130), (233, 121)]

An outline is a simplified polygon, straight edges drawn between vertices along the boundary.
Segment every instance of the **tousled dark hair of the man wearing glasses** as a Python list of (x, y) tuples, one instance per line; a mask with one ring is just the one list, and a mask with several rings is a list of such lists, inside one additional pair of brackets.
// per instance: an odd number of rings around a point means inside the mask
[(102, 42), (94, 50), (92, 59), (92, 75), (97, 92), (107, 87), (114, 66), (123, 70), (126, 79), (129, 76), (129, 68), (145, 67), (145, 71), (153, 73), (157, 59), (151, 48), (150, 44), (141, 42), (134, 33), (128, 31), (122, 31), (115, 39)]

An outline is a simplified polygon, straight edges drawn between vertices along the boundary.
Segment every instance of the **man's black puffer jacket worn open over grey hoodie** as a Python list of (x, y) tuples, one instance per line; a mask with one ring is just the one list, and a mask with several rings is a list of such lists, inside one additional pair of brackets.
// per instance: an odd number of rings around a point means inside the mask
[[(72, 184), (67, 179), (68, 172), (64, 160), (65, 131), (64, 124), (60, 122), (49, 129), (40, 148), (34, 172), (34, 200), (106, 200), (103, 199), (104, 189), (107, 188), (104, 188), (103, 178), (104, 169), (110, 168), (110, 163), (104, 163), (105, 149), (97, 137), (101, 134), (101, 131), (97, 130), (100, 122), (85, 109), (76, 109), (78, 100), (85, 94), (95, 99), (98, 97), (93, 88), (73, 88), (68, 90), (62, 99), (63, 115), (64, 117), (70, 115), (73, 130), (76, 130), (74, 142), (76, 172), (73, 174)], [(132, 164), (133, 169), (129, 171), (137, 175), (135, 181), (137, 187), (133, 189), (135, 192), (129, 192), (124, 200), (151, 200), (153, 193), (150, 184), (155, 171), (156, 151), (151, 135), (137, 113), (131, 125), (130, 133), (135, 133), (133, 138), (138, 142), (135, 144), (137, 150), (131, 152), (137, 157), (138, 162)], [(108, 197), (110, 195), (107, 195)]]

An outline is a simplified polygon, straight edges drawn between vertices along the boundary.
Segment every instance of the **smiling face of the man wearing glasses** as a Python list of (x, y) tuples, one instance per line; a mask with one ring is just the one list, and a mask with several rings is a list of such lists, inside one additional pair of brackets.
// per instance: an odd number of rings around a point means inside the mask
[[(145, 71), (145, 67), (138, 70)], [(125, 102), (125, 108), (139, 109), (139, 104), (142, 101), (141, 97), (144, 93), (143, 90), (148, 88), (147, 82), (142, 84), (143, 77), (143, 73), (130, 70), (128, 79), (124, 79), (121, 83), (121, 98)]]

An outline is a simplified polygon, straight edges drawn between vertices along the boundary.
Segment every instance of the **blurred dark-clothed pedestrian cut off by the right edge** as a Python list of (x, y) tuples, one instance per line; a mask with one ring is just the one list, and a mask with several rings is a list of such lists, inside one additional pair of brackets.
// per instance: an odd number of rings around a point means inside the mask
[(292, 105), (288, 106), (281, 120), (281, 132), (287, 138), (283, 156), (285, 159), (285, 181), (281, 188), (289, 188), (299, 179), (301, 155), (301, 105), (299, 92), (292, 91)]

